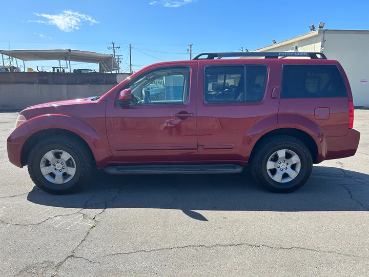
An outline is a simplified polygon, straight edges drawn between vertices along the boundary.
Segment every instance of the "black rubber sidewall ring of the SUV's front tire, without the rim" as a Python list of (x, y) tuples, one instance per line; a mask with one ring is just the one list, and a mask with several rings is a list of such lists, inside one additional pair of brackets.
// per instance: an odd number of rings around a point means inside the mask
[[(41, 169), (40, 169), (40, 162), (43, 158), (43, 156), (51, 151), (51, 150), (63, 150), (63, 151), (67, 151), (74, 159), (75, 162), (75, 166), (76, 166), (76, 171), (74, 176), (72, 177), (72, 179), (70, 181), (68, 181), (67, 183), (64, 184), (54, 184), (51, 183), (50, 181), (48, 181), (45, 176), (42, 174)], [(29, 165), (30, 166), (30, 165)], [(70, 188), (72, 188), (79, 180), (80, 176), (81, 176), (81, 161), (80, 161), (80, 157), (79, 155), (73, 151), (71, 148), (69, 148), (66, 145), (61, 145), (61, 144), (48, 144), (48, 145), (44, 145), (44, 146), (40, 146), (38, 151), (35, 153), (34, 158), (33, 158), (33, 162), (32, 162), (32, 169), (34, 172), (34, 175), (36, 177), (36, 179), (38, 180), (38, 182), (46, 189), (49, 190), (54, 190), (54, 191), (66, 191)]]

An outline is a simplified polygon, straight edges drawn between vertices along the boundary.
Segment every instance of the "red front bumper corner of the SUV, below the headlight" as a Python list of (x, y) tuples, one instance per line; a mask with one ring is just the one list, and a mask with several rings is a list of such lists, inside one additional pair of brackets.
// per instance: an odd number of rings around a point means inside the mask
[(8, 159), (13, 165), (22, 168), (22, 148), (27, 138), (31, 135), (27, 123), (18, 126), (7, 139)]

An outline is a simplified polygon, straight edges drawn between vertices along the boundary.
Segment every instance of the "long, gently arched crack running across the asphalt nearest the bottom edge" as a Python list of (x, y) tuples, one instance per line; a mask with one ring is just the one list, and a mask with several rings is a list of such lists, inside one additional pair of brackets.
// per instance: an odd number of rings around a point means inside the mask
[(170, 247), (170, 248), (158, 248), (158, 249), (150, 249), (150, 250), (137, 250), (137, 251), (131, 251), (131, 252), (118, 252), (118, 253), (112, 253), (107, 254), (103, 256), (99, 256), (98, 258), (107, 258), (109, 256), (116, 256), (116, 255), (129, 255), (129, 254), (136, 254), (136, 253), (150, 253), (155, 251), (170, 251), (170, 250), (176, 250), (176, 249), (186, 249), (186, 248), (214, 248), (214, 247), (236, 247), (236, 246), (247, 246), (247, 247), (254, 247), (254, 248), (269, 248), (269, 249), (275, 249), (275, 250), (305, 250), (305, 251), (313, 251), (313, 252), (319, 252), (319, 253), (327, 253), (327, 254), (336, 254), (336, 255), (343, 255), (351, 258), (361, 258), (361, 259), (369, 259), (368, 256), (360, 256), (360, 255), (351, 255), (336, 251), (329, 251), (329, 250), (318, 250), (318, 249), (312, 249), (312, 248), (304, 248), (304, 247), (298, 247), (298, 246), (292, 246), (292, 247), (277, 247), (277, 246), (270, 246), (265, 244), (249, 244), (249, 243), (238, 243), (238, 244), (214, 244), (214, 245), (186, 245), (186, 246), (176, 246), (176, 247)]

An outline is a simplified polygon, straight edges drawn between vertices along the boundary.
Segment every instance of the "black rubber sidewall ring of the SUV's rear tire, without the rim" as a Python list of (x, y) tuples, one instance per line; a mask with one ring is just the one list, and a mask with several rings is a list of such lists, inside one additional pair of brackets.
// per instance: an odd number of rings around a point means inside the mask
[[(287, 183), (278, 183), (272, 180), (267, 170), (267, 163), (268, 163), (269, 157), (273, 153), (281, 149), (294, 151), (299, 156), (300, 162), (301, 162), (300, 172), (295, 177), (295, 179)], [(268, 183), (268, 186), (270, 186), (271, 188), (275, 190), (280, 190), (280, 189), (291, 190), (294, 188), (297, 189), (303, 185), (304, 182), (302, 181), (305, 179), (305, 176), (309, 174), (309, 170), (311, 168), (310, 163), (311, 161), (309, 161), (308, 156), (306, 155), (306, 153), (304, 152), (304, 149), (301, 146), (299, 146), (298, 144), (294, 144), (294, 143), (281, 143), (279, 145), (273, 146), (264, 151), (264, 153), (262, 154), (260, 170), (261, 170), (262, 178), (264, 179), (265, 182)]]

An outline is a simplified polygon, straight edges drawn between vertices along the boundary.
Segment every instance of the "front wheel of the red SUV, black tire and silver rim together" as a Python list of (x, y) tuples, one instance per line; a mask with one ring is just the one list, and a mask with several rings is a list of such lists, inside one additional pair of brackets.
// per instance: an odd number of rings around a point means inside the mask
[[(46, 158), (46, 156), (51, 157), (50, 153), (55, 160)], [(67, 154), (61, 156), (61, 153)], [(70, 158), (67, 161), (62, 159), (63, 157), (67, 159), (68, 155)], [(54, 162), (55, 164), (53, 164)], [(42, 164), (46, 169), (42, 168)], [(57, 135), (47, 137), (37, 143), (28, 156), (27, 165), (28, 173), (37, 187), (51, 194), (68, 194), (90, 181), (93, 171), (93, 157), (90, 149), (80, 141), (73, 137)], [(52, 168), (50, 169), (50, 167)], [(56, 167), (60, 167), (59, 170)], [(44, 176), (42, 169), (45, 169), (44, 172), (50, 170), (52, 172), (50, 171)], [(53, 179), (58, 183), (50, 181)], [(60, 183), (60, 180), (64, 183)]]

